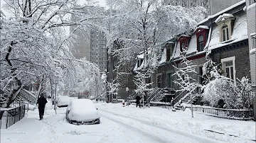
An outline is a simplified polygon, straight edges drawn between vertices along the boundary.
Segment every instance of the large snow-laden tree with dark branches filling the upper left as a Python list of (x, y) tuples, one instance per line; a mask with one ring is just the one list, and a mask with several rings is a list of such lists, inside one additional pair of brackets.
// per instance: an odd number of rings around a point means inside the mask
[[(5, 2), (4, 8), (11, 17), (1, 18), (0, 89), (6, 100), (3, 108), (9, 107), (23, 86), (58, 79), (67, 72), (73, 74), (74, 58), (70, 52), (73, 46), (69, 41), (73, 31), (66, 36), (63, 28), (68, 25), (77, 25), (75, 30), (92, 28), (106, 16), (105, 10), (92, 1), (83, 6), (75, 0)], [(75, 21), (68, 21), (70, 14)]]

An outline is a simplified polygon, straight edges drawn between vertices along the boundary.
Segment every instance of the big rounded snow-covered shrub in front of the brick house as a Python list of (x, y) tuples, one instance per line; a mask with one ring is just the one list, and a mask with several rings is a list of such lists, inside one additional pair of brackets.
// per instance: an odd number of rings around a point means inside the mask
[[(231, 79), (218, 76), (206, 85), (203, 92), (203, 101), (216, 108), (249, 109), (252, 98), (252, 87), (245, 77), (235, 86)], [(221, 102), (225, 105), (220, 105)]]

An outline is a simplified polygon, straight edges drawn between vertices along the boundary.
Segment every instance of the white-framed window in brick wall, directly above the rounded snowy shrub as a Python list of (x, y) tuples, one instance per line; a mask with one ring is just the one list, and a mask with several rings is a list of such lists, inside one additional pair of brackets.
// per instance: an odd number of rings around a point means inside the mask
[(235, 57), (221, 59), (223, 65), (223, 76), (226, 76), (235, 81)]

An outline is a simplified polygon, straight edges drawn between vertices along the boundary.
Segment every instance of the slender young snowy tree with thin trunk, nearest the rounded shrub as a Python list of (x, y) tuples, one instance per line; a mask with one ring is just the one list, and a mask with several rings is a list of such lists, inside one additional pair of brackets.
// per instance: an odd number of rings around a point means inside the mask
[(192, 74), (197, 74), (196, 65), (193, 65), (191, 60), (187, 59), (187, 52), (187, 47), (184, 47), (181, 51), (181, 67), (175, 67), (176, 71), (173, 75), (177, 76), (174, 84), (180, 87), (177, 91), (187, 91), (187, 96), (190, 95), (191, 97), (191, 115), (193, 118), (193, 96), (191, 96), (191, 94), (198, 88), (199, 84), (196, 82), (196, 79), (193, 79), (191, 76)]

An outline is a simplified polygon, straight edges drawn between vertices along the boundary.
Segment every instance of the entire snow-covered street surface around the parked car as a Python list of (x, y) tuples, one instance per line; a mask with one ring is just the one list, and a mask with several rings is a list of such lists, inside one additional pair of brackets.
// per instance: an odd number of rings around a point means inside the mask
[(199, 113), (192, 119), (188, 111), (122, 107), (120, 103), (95, 105), (100, 110), (100, 125), (71, 125), (65, 119), (65, 108), (58, 108), (55, 115), (53, 106), (48, 104), (43, 120), (38, 120), (38, 110), (29, 110), (21, 121), (7, 130), (1, 129), (1, 142), (253, 142), (250, 139), (255, 139), (252, 121), (225, 120)]

